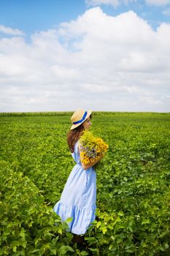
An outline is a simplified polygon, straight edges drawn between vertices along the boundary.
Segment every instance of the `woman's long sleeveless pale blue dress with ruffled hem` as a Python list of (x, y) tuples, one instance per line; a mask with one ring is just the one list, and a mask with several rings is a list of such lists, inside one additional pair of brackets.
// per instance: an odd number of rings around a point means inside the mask
[(96, 217), (96, 171), (93, 167), (88, 170), (82, 168), (78, 142), (74, 146), (72, 157), (76, 165), (66, 181), (61, 200), (53, 209), (62, 221), (73, 217), (72, 222), (68, 223), (69, 231), (82, 235)]

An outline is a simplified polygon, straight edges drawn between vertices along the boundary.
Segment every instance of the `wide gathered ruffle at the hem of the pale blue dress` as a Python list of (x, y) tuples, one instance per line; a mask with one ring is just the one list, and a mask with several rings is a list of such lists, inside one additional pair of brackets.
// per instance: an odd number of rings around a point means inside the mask
[(93, 207), (80, 207), (80, 206), (69, 206), (58, 201), (55, 204), (53, 210), (58, 214), (62, 221), (66, 221), (69, 217), (73, 217), (72, 222), (67, 223), (69, 225), (69, 231), (82, 235), (88, 230), (89, 223), (95, 220), (96, 206)]

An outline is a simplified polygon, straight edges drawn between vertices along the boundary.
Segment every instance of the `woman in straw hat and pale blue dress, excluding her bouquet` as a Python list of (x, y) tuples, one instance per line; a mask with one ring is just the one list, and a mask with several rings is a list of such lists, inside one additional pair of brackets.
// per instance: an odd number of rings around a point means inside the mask
[(54, 211), (63, 221), (72, 217), (69, 229), (77, 235), (85, 234), (90, 222), (95, 219), (96, 211), (96, 171), (93, 165), (96, 162), (85, 165), (80, 159), (79, 138), (85, 129), (89, 129), (92, 111), (76, 110), (72, 115), (72, 127), (67, 135), (67, 143), (76, 165), (72, 169), (63, 189), (61, 200), (54, 206)]

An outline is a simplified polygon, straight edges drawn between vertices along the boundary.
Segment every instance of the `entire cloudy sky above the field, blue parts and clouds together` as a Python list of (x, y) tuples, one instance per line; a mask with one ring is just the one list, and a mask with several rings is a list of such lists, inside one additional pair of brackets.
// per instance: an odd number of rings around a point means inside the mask
[(0, 0), (0, 112), (169, 112), (169, 45), (170, 0)]

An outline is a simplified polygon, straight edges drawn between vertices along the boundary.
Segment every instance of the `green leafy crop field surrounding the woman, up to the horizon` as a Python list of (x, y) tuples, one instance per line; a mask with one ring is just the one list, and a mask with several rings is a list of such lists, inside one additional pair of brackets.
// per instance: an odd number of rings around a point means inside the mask
[(74, 167), (71, 114), (0, 113), (0, 255), (169, 256), (170, 113), (93, 114), (109, 150), (84, 247), (53, 213)]

